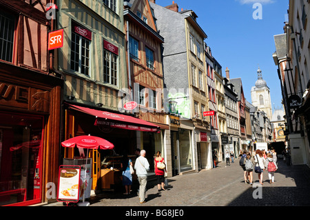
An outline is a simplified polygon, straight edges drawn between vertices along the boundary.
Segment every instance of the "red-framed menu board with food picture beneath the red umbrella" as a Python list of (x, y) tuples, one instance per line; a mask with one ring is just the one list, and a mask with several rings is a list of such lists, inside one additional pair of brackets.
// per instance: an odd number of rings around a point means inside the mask
[(57, 200), (79, 201), (80, 166), (60, 166)]

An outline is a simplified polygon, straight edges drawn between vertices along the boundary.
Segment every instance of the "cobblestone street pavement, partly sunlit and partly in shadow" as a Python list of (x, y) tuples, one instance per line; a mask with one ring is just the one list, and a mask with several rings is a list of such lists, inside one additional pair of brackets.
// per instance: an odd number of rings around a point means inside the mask
[[(287, 166), (280, 160), (275, 183), (270, 184), (267, 171), (264, 183), (245, 184), (239, 160), (225, 166), (220, 163), (212, 170), (168, 178), (169, 187), (158, 192), (156, 181), (148, 181), (145, 199), (139, 203), (136, 188), (129, 195), (123, 192), (104, 192), (89, 199), (90, 206), (310, 206), (310, 169), (307, 166)], [(48, 206), (63, 206), (51, 203)]]

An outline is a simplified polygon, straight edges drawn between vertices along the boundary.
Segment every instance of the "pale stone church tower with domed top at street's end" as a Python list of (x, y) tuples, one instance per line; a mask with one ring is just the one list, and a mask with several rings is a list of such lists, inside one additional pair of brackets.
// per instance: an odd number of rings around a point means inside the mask
[(251, 100), (252, 105), (256, 106), (258, 110), (264, 111), (267, 117), (271, 120), (272, 117), (272, 106), (271, 106), (271, 96), (270, 89), (267, 83), (262, 79), (262, 70), (258, 68), (257, 70), (258, 80), (255, 86), (251, 88)]

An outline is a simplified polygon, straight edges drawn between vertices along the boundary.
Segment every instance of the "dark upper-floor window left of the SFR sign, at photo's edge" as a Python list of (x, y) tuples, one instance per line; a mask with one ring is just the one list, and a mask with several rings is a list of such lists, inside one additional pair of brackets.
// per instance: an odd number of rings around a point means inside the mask
[(12, 62), (14, 17), (0, 11), (0, 59)]

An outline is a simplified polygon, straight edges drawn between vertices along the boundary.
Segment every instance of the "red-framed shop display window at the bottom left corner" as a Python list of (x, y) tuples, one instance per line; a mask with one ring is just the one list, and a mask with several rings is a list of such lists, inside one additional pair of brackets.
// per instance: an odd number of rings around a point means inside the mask
[(0, 112), (0, 206), (41, 202), (43, 117)]

